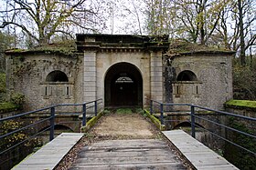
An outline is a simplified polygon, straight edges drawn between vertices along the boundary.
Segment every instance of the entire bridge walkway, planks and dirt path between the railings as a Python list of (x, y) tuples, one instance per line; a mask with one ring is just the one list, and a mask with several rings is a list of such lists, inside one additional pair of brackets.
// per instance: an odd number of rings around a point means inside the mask
[(238, 169), (197, 141), (193, 132), (162, 131), (161, 122), (157, 125), (146, 111), (101, 112), (87, 123), (86, 133), (50, 135), (47, 145), (13, 169)]

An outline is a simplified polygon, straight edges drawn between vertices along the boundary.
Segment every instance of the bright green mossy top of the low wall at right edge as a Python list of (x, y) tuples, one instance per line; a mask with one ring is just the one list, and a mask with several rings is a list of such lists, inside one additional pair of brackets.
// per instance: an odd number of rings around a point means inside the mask
[(232, 108), (248, 108), (256, 110), (256, 101), (251, 100), (229, 100), (225, 105)]

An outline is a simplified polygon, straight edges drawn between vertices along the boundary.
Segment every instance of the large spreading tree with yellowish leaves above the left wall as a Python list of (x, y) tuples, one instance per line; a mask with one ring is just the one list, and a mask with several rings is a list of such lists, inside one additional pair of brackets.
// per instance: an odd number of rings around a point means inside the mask
[[(15, 25), (38, 45), (61, 33), (72, 36), (83, 30), (95, 29), (97, 5), (90, 0), (5, 0), (0, 15), (0, 28)], [(101, 19), (98, 18), (99, 23)]]

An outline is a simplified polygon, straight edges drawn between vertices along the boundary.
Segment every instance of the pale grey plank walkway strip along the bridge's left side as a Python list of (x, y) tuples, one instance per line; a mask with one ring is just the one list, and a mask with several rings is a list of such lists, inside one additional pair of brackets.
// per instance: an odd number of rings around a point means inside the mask
[(47, 145), (41, 147), (35, 154), (28, 156), (13, 169), (54, 169), (82, 136), (83, 134), (80, 133), (62, 133)]

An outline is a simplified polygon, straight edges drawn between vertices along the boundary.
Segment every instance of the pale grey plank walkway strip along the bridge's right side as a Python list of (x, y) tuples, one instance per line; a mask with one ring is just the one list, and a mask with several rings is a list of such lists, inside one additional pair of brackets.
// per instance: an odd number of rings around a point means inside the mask
[(182, 130), (164, 131), (163, 134), (171, 143), (176, 145), (176, 148), (187, 157), (187, 160), (198, 170), (238, 169), (234, 165), (231, 165), (224, 157), (216, 154), (206, 145), (201, 144), (197, 139)]

